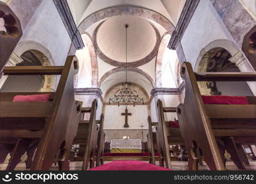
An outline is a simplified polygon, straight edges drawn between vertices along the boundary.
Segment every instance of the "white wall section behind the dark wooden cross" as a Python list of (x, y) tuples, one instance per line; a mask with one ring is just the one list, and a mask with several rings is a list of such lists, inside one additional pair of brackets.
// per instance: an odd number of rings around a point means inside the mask
[(148, 129), (148, 107), (146, 105), (128, 105), (128, 112), (132, 113), (128, 116), (129, 128), (124, 128), (126, 110), (125, 105), (106, 105), (105, 107), (105, 122), (104, 129), (142, 129), (140, 125), (143, 125), (143, 129)]

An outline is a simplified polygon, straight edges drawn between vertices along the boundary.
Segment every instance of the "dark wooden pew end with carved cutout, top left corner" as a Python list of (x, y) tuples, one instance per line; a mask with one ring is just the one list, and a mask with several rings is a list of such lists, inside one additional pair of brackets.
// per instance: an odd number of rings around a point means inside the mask
[(0, 2), (0, 18), (4, 19), (6, 31), (0, 31), (0, 78), (14, 48), (22, 37), (22, 26), (17, 16), (4, 2)]

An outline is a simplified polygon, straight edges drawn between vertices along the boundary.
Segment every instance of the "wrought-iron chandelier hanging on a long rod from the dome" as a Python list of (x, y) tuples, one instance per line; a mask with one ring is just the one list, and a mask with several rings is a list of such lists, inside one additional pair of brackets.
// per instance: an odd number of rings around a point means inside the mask
[(113, 102), (119, 106), (120, 103), (124, 103), (127, 106), (129, 103), (133, 103), (135, 106), (135, 104), (142, 102), (144, 105), (143, 98), (139, 98), (138, 94), (130, 87), (131, 84), (127, 83), (127, 28), (128, 25), (126, 25), (126, 82), (122, 83), (122, 88), (114, 94), (113, 98), (110, 98), (109, 104)]

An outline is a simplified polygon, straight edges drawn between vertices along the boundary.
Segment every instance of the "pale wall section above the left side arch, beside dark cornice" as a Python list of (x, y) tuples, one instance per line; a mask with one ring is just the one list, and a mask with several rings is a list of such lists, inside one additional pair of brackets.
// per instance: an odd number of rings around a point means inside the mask
[(53, 1), (42, 1), (23, 31), (20, 42), (30, 40), (46, 47), (55, 65), (63, 65), (71, 40)]

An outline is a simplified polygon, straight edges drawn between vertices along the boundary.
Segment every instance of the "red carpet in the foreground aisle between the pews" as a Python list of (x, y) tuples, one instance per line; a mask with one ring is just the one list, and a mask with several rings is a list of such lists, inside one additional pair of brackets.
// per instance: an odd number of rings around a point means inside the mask
[(142, 161), (113, 161), (89, 171), (171, 171), (165, 167), (155, 166)]

